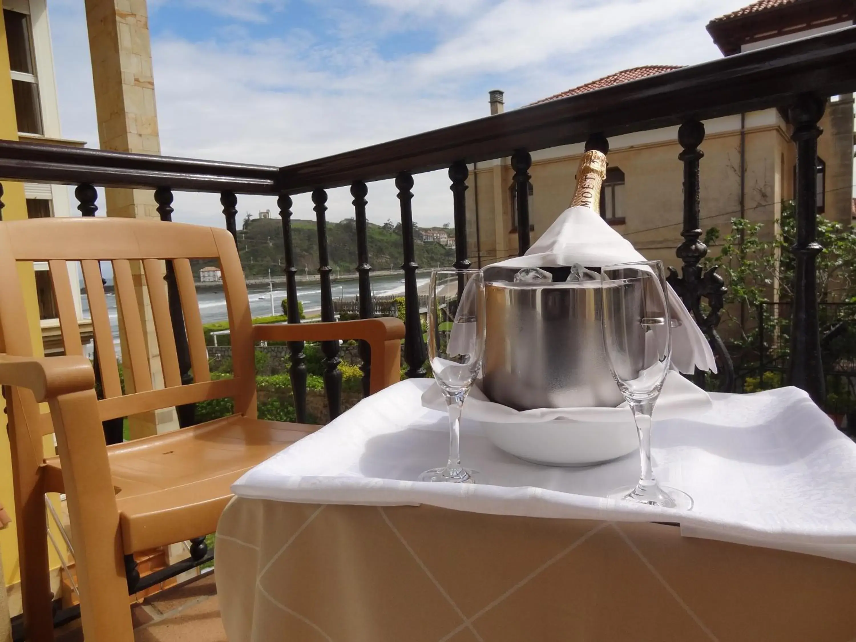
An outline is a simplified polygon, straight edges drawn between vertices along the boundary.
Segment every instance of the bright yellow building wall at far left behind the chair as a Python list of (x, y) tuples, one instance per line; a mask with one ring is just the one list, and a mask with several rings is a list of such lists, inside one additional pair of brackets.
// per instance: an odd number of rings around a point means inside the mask
[[(12, 98), (12, 80), (9, 73), (9, 49), (6, 45), (6, 29), (0, 21), (0, 139), (18, 140), (15, 121), (15, 102)], [(20, 182), (3, 181), (3, 220), (14, 221), (27, 218), (27, 200), (24, 186)], [(19, 264), (21, 285), (24, 290), (27, 319), (30, 324), (30, 336), (33, 337), (33, 354), (41, 356), (42, 339), (39, 327), (39, 300), (36, 297), (36, 281), (33, 265)], [(3, 400), (0, 399), (0, 404)], [(54, 454), (53, 436), (45, 437), (45, 455)], [(12, 490), (12, 467), (9, 451), (9, 437), (6, 432), (6, 414), (0, 413), (0, 502), (9, 512), (13, 523), (0, 531), (0, 552), (3, 554), (3, 573), (6, 585), (21, 580), (18, 565), (18, 538), (15, 534), (15, 496)], [(52, 497), (58, 505), (56, 496)], [(55, 528), (55, 526), (52, 526)], [(56, 531), (55, 531), (56, 532)], [(56, 535), (57, 541), (61, 541)], [(64, 551), (63, 551), (64, 553)], [(60, 561), (56, 551), (51, 549), (51, 568), (59, 568)], [(14, 604), (12, 605), (14, 609)]]

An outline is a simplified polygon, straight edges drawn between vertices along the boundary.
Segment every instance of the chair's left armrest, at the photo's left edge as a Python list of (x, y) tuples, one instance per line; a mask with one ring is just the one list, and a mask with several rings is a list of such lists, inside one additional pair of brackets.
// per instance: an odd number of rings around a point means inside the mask
[(36, 401), (95, 388), (95, 372), (86, 357), (13, 357), (0, 354), (0, 385), (33, 391)]

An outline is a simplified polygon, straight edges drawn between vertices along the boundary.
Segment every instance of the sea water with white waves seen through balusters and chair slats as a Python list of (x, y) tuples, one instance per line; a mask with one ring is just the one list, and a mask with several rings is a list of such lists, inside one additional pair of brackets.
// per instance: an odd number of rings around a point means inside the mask
[[(390, 296), (404, 295), (404, 278), (403, 274), (393, 276), (378, 276), (372, 278), (372, 293), (375, 296)], [(427, 276), (419, 275), (417, 277), (419, 287), (428, 282)], [(281, 288), (281, 289), (280, 289)], [(333, 299), (351, 299), (353, 300), (359, 294), (359, 284), (354, 281), (334, 282), (332, 286)], [(215, 321), (228, 320), (228, 312), (226, 311), (226, 299), (223, 292), (212, 292), (211, 290), (198, 291), (197, 299), (199, 300), (199, 316), (202, 318), (203, 324), (210, 324)], [(119, 344), (119, 317), (116, 312), (116, 294), (109, 293), (107, 297), (107, 312), (110, 315), (110, 328), (113, 330), (113, 340), (116, 346)], [(286, 297), (284, 284), (277, 284), (271, 293), (270, 288), (253, 289), (247, 293), (247, 298), (250, 302), (250, 311), (255, 317), (267, 317), (270, 315), (270, 301), (273, 299), (273, 314), (282, 314), (282, 300)], [(321, 288), (318, 283), (307, 283), (306, 285), (298, 285), (297, 299), (303, 304), (303, 312), (307, 317), (317, 316), (321, 312)], [(83, 317), (89, 318), (89, 306), (86, 300), (86, 294), (83, 295)], [(85, 348), (89, 351), (89, 356), (92, 356), (92, 342)], [(118, 351), (118, 348), (117, 348)]]

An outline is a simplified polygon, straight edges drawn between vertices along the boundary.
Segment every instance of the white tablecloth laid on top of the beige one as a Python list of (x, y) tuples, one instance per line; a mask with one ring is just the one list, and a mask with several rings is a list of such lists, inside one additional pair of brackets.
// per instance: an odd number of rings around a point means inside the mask
[(237, 496), (369, 505), (431, 504), (476, 513), (614, 521), (667, 521), (687, 536), (856, 562), (856, 443), (799, 389), (712, 394), (710, 409), (654, 425), (655, 473), (687, 491), (692, 511), (606, 499), (633, 484), (628, 455), (588, 468), (541, 467), (496, 449), (477, 425), (461, 434), (465, 465), (487, 484), (412, 481), (442, 465), (443, 413), (421, 397), (431, 379), (408, 380), (356, 407), (245, 474)]

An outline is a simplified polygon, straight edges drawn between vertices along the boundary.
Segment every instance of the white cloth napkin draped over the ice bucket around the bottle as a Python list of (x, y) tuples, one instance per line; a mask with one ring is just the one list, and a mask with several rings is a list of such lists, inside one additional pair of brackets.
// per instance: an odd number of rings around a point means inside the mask
[[(603, 267), (616, 263), (644, 261), (627, 241), (602, 217), (588, 207), (570, 207), (520, 257), (488, 265), (484, 281), (489, 282), (497, 268), (561, 267), (574, 264)], [(716, 372), (716, 361), (704, 333), (698, 328), (681, 298), (669, 287), (669, 305), (673, 318), (681, 324), (672, 330), (672, 363), (681, 372), (695, 369)]]

